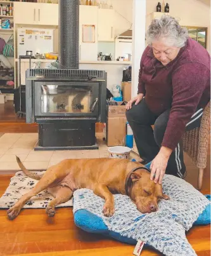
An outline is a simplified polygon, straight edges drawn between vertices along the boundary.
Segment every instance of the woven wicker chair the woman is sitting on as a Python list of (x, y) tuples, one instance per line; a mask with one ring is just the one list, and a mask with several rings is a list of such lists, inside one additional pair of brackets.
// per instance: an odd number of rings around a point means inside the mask
[(207, 166), (207, 149), (210, 134), (210, 102), (203, 111), (200, 128), (186, 131), (182, 137), (183, 150), (192, 159), (193, 163), (199, 168), (198, 189), (200, 190), (203, 182), (203, 170)]

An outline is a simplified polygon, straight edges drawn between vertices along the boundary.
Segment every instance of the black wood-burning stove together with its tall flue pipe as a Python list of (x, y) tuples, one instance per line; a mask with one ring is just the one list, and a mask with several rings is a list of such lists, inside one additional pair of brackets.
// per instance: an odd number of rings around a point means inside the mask
[(105, 71), (79, 69), (79, 0), (59, 1), (59, 67), (26, 72), (26, 119), (39, 125), (35, 150), (98, 149), (107, 79)]

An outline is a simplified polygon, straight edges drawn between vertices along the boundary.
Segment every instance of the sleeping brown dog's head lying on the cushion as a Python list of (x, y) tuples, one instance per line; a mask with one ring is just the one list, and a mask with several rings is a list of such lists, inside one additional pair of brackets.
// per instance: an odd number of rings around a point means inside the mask
[(131, 174), (131, 181), (130, 196), (141, 213), (156, 212), (158, 201), (169, 199), (169, 196), (163, 194), (162, 185), (150, 180), (150, 173), (146, 170), (136, 170)]

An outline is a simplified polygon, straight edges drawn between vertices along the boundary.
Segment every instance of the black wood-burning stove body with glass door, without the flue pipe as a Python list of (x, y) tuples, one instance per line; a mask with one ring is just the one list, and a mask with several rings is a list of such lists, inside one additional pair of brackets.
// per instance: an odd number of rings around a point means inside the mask
[(95, 123), (105, 122), (106, 73), (30, 69), (27, 123), (38, 123), (37, 150), (97, 149)]

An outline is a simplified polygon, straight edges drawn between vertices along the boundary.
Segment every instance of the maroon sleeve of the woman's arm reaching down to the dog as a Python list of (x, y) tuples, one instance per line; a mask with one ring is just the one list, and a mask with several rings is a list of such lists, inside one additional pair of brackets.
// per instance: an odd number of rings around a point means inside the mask
[(174, 150), (210, 83), (210, 71), (201, 64), (183, 64), (172, 74), (172, 107), (162, 146)]

